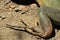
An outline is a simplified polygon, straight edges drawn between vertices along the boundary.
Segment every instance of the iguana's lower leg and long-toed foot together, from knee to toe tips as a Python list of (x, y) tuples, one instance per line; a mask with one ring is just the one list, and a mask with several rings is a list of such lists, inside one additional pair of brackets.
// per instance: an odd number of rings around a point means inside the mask
[(38, 12), (38, 16), (39, 16), (38, 27), (28, 28), (28, 27), (21, 27), (21, 26), (12, 26), (8, 24), (7, 28), (26, 30), (35, 36), (47, 38), (52, 34), (52, 30), (53, 30), (52, 23), (49, 17), (45, 14), (44, 10), (41, 8)]

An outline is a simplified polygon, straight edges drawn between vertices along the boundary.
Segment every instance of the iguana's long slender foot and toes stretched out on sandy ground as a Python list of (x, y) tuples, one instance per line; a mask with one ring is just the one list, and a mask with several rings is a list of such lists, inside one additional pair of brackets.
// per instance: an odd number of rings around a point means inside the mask
[(31, 28), (27, 28), (27, 27), (22, 27), (22, 26), (12, 26), (12, 25), (9, 25), (7, 24), (6, 25), (7, 28), (11, 28), (11, 29), (14, 29), (14, 30), (23, 30), (23, 31), (27, 31), (35, 36), (39, 36), (39, 33), (38, 32), (34, 32), (33, 30), (34, 29), (31, 29)]

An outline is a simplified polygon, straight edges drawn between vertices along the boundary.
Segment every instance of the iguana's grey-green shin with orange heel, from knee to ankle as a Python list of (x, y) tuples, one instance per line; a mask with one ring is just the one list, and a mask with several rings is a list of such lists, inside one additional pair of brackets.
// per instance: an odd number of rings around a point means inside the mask
[(44, 31), (44, 32), (40, 31), (40, 36), (43, 38), (47, 38), (48, 36), (51, 35), (52, 30), (53, 30), (51, 21), (48, 18), (48, 16), (45, 14), (45, 11), (43, 8), (40, 8), (40, 10), (38, 12), (38, 16), (39, 16), (39, 21), (40, 21), (40, 27), (42, 27), (42, 29)]

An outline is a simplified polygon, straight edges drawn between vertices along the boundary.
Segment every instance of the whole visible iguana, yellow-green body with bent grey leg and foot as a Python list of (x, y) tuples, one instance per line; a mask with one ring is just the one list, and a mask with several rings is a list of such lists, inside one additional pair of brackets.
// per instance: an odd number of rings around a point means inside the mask
[[(52, 23), (60, 25), (60, 0), (36, 0), (40, 5), (39, 12), (39, 27), (28, 28), (25, 27), (29, 33), (32, 33), (36, 36), (48, 38), (53, 31)], [(19, 27), (8, 25), (9, 28), (19, 29)], [(19, 29), (22, 30), (22, 29)], [(34, 31), (36, 32), (34, 32)], [(40, 31), (42, 30), (42, 31)]]

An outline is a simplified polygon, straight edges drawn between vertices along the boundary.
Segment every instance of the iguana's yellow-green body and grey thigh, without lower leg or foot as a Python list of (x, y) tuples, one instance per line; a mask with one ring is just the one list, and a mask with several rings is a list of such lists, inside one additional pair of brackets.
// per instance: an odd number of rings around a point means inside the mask
[(60, 25), (60, 0), (36, 0), (54, 23)]

